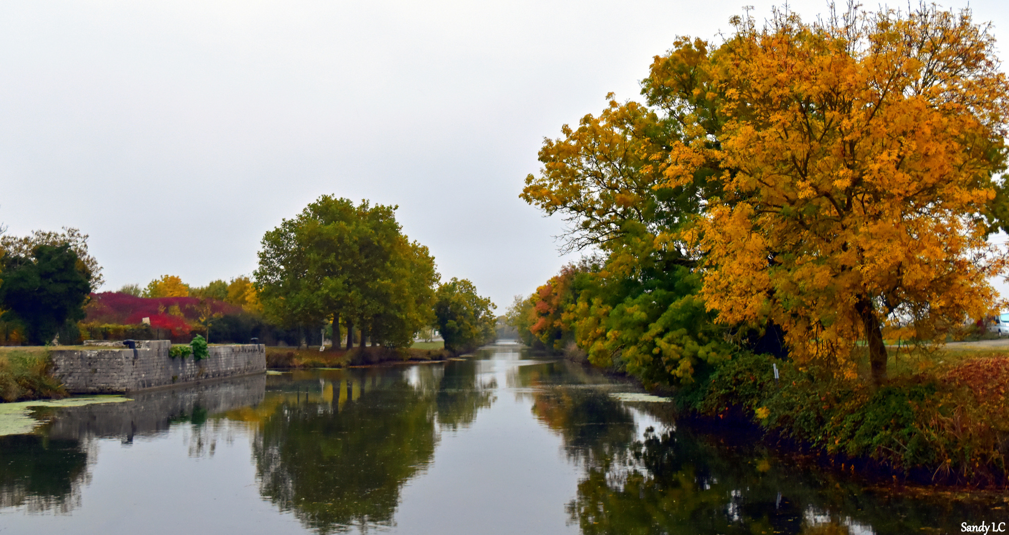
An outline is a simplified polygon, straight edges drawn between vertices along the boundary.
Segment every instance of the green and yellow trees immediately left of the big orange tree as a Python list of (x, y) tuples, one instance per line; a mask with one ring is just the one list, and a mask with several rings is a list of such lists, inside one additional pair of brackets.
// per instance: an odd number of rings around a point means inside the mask
[(656, 59), (647, 104), (610, 100), (598, 117), (564, 125), (562, 138), (544, 142), (544, 167), (522, 194), (564, 217), (566, 249), (603, 254), (592, 273), (561, 274), (538, 289), (526, 313), (531, 334), (563, 343), (573, 333), (593, 363), (649, 383), (690, 381), (696, 365), (731, 350), (697, 297), (700, 255), (689, 235), (720, 188), (718, 161), (702, 150), (720, 123), (709, 94), (694, 91), (703, 78), (691, 76), (703, 46), (680, 39)]

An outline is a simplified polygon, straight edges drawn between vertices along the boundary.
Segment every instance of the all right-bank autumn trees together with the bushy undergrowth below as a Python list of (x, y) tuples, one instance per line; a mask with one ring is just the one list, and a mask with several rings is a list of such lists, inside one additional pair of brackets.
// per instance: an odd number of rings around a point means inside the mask
[(640, 101), (610, 95), (544, 141), (522, 198), (585, 257), (510, 323), (700, 414), (1005, 483), (1009, 415), (975, 384), (1005, 360), (898, 376), (886, 341), (934, 347), (1003, 306), (989, 237), (1009, 213), (1009, 83), (991, 27), (924, 4), (732, 22), (656, 57)]

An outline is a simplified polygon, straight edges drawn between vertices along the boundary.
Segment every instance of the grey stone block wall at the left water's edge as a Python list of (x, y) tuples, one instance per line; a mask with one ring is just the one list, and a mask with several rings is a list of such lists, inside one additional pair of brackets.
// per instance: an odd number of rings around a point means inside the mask
[(261, 373), (261, 344), (212, 345), (207, 358), (172, 358), (167, 340), (138, 340), (136, 349), (96, 347), (50, 351), (52, 375), (75, 394), (133, 392), (206, 379)]

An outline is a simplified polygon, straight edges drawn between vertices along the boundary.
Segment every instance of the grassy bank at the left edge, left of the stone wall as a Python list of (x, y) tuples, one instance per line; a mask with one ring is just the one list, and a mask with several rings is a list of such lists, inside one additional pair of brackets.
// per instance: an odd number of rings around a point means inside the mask
[(49, 353), (44, 348), (0, 349), (0, 400), (67, 397), (67, 391), (49, 373), (51, 365)]

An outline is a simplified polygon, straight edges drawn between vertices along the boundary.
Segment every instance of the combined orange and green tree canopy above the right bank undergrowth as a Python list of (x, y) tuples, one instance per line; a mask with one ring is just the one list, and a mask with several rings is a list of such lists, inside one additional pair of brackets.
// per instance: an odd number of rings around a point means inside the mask
[(995, 305), (1009, 84), (994, 38), (924, 5), (733, 22), (720, 44), (656, 57), (646, 103), (610, 96), (544, 142), (522, 197), (565, 217), (568, 247), (605, 254), (566, 317), (593, 361), (658, 380), (774, 324), (793, 357), (843, 376), (868, 346), (881, 382), (884, 327), (940, 340)]

